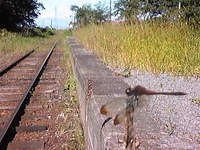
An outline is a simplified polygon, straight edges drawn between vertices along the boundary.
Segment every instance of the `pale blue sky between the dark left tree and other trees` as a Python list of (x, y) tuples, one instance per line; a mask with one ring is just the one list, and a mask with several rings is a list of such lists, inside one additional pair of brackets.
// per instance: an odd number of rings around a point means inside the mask
[(66, 29), (74, 16), (74, 12), (70, 10), (71, 5), (81, 7), (84, 4), (91, 4), (94, 6), (98, 2), (105, 2), (109, 5), (110, 0), (38, 0), (38, 2), (43, 3), (45, 7), (44, 10), (40, 11), (41, 15), (35, 20), (38, 26), (46, 27), (52, 24), (54, 28)]

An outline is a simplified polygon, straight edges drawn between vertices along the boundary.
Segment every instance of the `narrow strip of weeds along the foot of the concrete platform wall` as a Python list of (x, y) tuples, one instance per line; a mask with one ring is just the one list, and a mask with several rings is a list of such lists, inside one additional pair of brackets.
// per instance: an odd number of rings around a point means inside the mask
[(66, 108), (63, 110), (66, 123), (58, 127), (60, 134), (68, 134), (69, 139), (67, 147), (69, 149), (84, 149), (83, 130), (80, 123), (79, 116), (79, 103), (76, 94), (76, 84), (70, 62), (70, 55), (66, 44), (66, 34), (70, 34), (70, 31), (65, 31), (61, 35), (62, 40), (59, 45), (66, 49), (62, 65), (67, 70), (67, 79), (64, 81), (64, 94), (68, 96), (67, 100), (62, 100), (61, 105)]

